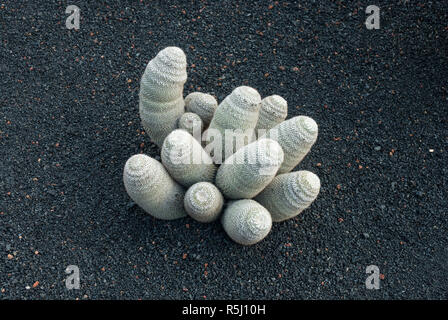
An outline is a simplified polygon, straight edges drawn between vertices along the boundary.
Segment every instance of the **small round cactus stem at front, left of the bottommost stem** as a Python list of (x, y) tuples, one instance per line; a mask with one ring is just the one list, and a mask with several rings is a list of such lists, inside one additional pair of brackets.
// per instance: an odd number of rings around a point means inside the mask
[(224, 198), (209, 182), (192, 185), (185, 194), (184, 206), (188, 215), (199, 222), (212, 222), (221, 213)]

